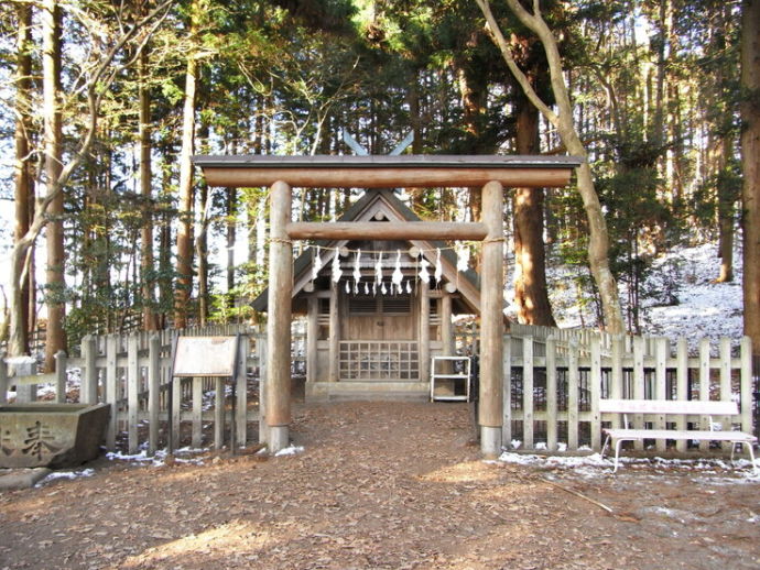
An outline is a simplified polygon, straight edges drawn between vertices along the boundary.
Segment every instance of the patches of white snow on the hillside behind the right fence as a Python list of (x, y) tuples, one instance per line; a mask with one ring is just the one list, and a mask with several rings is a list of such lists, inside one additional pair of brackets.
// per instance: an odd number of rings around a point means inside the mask
[[(644, 285), (649, 295), (643, 300), (642, 333), (686, 337), (692, 347), (705, 337), (739, 339), (742, 333), (741, 250), (735, 252), (732, 283), (715, 283), (719, 266), (716, 243), (677, 248), (655, 260)], [(564, 265), (550, 267), (547, 272), (550, 299), (561, 328), (597, 324), (590, 292), (579, 291), (576, 285), (579, 271), (588, 273)], [(507, 296), (508, 314), (513, 316), (511, 284)], [(625, 285), (620, 287), (620, 296), (625, 304)]]

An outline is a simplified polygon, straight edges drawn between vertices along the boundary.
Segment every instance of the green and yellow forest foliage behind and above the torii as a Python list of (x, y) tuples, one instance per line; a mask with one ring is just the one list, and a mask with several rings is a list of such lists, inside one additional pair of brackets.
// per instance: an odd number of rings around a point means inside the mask
[[(14, 117), (11, 4), (0, 7), (3, 149), (11, 146)], [(194, 4), (198, 30), (191, 34)], [(492, 4), (519, 65), (551, 105), (543, 50), (503, 2)], [(82, 58), (109, 47), (112, 34), (107, 32), (119, 25), (116, 11), (132, 9), (124, 6), (87, 2), (77, 7), (77, 18), (65, 20), (67, 156), (88, 121), (87, 101), (78, 90), (89, 73)], [(741, 183), (737, 3), (671, 6), (675, 10), (663, 21), (662, 4), (652, 1), (541, 2), (560, 39), (577, 123), (588, 141), (609, 223), (611, 266), (636, 292), (629, 310), (638, 310), (639, 297), (648, 295), (640, 287), (652, 254), (690, 232), (712, 234), (718, 218), (736, 216)], [(119, 62), (131, 62), (133, 50)], [(509, 154), (518, 110), (526, 105), (486, 35), (477, 7), (460, 0), (185, 0), (173, 7), (146, 50), (143, 81), (151, 98), (156, 198), (144, 200), (137, 187), (139, 84), (131, 63), (104, 94), (96, 144), (66, 188), (69, 286), (46, 294), (67, 300), (74, 339), (88, 329), (116, 330), (145, 305), (170, 319), (187, 57), (200, 64), (196, 122), (204, 153), (350, 154), (341, 141), (345, 129), (373, 154), (388, 153), (410, 130), (420, 153)], [(39, 45), (32, 55), (36, 70)], [(35, 105), (39, 98), (33, 94)], [(42, 119), (34, 116), (33, 140)], [(541, 135), (542, 152), (558, 147), (556, 133), (542, 127)], [(727, 149), (725, 160), (714, 156), (718, 147)], [(11, 189), (8, 174), (0, 191), (10, 196)], [(237, 240), (248, 238), (256, 249), (259, 229), (250, 220), (265, 210), (265, 193), (240, 190), (231, 212), (224, 191), (214, 193), (208, 212), (213, 248), (231, 217), (239, 224)], [(296, 197), (295, 216), (339, 216), (348, 202), (341, 193), (304, 190)], [(420, 215), (433, 219), (462, 206), (434, 188), (415, 194), (413, 202)], [(593, 292), (577, 191), (553, 190), (551, 205), (554, 251), (577, 268), (578, 286)], [(155, 260), (143, 274), (140, 230), (149, 220)], [(252, 251), (249, 259), (259, 253)], [(211, 267), (213, 276), (219, 268)], [(210, 284), (213, 318), (252, 318), (248, 300), (265, 286), (265, 266), (250, 262), (238, 267), (229, 294), (219, 293), (216, 281)], [(142, 297), (146, 282), (162, 285), (158, 300)], [(595, 297), (584, 298), (594, 303)]]

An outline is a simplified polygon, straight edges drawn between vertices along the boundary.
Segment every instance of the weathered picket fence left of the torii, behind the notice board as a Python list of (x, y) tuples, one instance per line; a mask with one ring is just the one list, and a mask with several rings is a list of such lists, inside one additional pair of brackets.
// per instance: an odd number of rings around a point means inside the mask
[[(245, 325), (220, 325), (188, 328), (182, 336), (234, 336), (241, 333), (242, 350), (236, 384), (236, 417), (231, 417), (230, 382), (225, 379), (175, 377), (171, 417), (175, 441), (194, 448), (213, 441), (220, 448), (228, 440), (231, 423), (236, 423), (237, 445), (251, 442), (259, 420), (260, 379), (265, 375), (265, 335)], [(0, 403), (6, 402), (9, 385), (17, 385), (17, 402), (37, 399), (45, 385), (53, 390), (53, 402), (111, 404), (106, 432), (108, 450), (126, 449), (149, 453), (166, 442), (170, 417), (167, 409), (171, 353), (176, 330), (135, 332), (131, 335), (87, 336), (79, 354), (56, 357), (56, 372), (9, 379), (8, 368), (0, 359)], [(293, 372), (305, 365), (305, 338), (298, 327), (293, 335)], [(70, 374), (78, 374), (79, 392), (66, 393)], [(47, 390), (50, 393), (51, 391)], [(68, 397), (67, 397), (68, 396)], [(163, 428), (163, 429), (162, 429)], [(227, 436), (226, 436), (227, 435)]]

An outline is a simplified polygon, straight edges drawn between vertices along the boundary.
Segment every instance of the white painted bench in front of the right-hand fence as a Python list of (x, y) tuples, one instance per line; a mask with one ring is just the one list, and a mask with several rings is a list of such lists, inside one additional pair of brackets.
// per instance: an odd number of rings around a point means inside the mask
[[(605, 445), (601, 447), (601, 457), (605, 457), (607, 446), (612, 442), (615, 446), (615, 470), (618, 470), (618, 459), (620, 457), (620, 445), (623, 441), (642, 441), (644, 439), (675, 439), (675, 440), (701, 440), (701, 441), (729, 441), (731, 443), (731, 461), (734, 461), (734, 448), (736, 443), (746, 445), (749, 457), (752, 460), (754, 473), (758, 467), (754, 464), (754, 451), (752, 445), (758, 438), (743, 431), (725, 431), (713, 429), (712, 416), (736, 416), (739, 407), (736, 402), (703, 402), (703, 401), (676, 401), (676, 399), (600, 399), (599, 413), (601, 414), (622, 414), (625, 428), (605, 428), (602, 434), (606, 437)], [(628, 414), (659, 415), (659, 416), (709, 416), (708, 430), (691, 429), (632, 429), (628, 426)]]

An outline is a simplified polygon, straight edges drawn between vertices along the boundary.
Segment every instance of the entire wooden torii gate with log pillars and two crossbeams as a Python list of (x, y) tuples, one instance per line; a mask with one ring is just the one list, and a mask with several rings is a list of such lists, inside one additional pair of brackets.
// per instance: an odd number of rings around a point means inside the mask
[[(503, 402), (503, 188), (562, 187), (580, 164), (566, 156), (194, 156), (209, 186), (270, 187), (265, 424), (274, 453), (290, 445), (293, 243), (301, 239), (482, 241), (480, 285), (480, 445), (501, 452)], [(481, 219), (469, 223), (291, 221), (292, 187), (481, 188)], [(471, 190), (477, 191), (477, 190)]]

